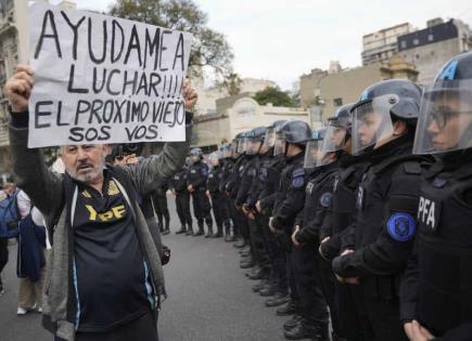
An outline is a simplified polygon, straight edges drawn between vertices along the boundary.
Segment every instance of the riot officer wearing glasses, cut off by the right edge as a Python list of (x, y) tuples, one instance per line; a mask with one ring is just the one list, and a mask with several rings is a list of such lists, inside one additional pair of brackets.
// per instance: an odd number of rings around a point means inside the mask
[(423, 176), (416, 252), (401, 283), (411, 341), (472, 338), (472, 53), (449, 61), (425, 92), (413, 153)]

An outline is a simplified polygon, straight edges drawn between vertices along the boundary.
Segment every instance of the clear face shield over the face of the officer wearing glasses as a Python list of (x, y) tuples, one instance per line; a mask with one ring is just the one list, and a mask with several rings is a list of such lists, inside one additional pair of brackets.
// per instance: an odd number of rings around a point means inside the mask
[(414, 154), (472, 147), (472, 80), (444, 80), (423, 93)]

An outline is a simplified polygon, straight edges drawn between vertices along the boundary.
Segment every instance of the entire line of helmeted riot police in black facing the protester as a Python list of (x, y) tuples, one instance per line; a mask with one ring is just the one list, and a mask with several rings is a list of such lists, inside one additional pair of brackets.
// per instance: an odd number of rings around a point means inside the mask
[(472, 340), (472, 53), (425, 89), (372, 84), (321, 131), (276, 121), (220, 154), (187, 171), (199, 233), (209, 197), (286, 339), (329, 340), (331, 320), (333, 340)]

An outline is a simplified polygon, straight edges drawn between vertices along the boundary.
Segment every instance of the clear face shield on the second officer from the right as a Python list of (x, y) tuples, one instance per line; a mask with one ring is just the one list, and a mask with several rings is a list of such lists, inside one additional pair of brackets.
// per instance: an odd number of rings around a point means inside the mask
[(395, 103), (398, 103), (398, 96), (388, 94), (366, 102), (353, 110), (353, 155), (362, 154), (393, 135), (390, 109)]

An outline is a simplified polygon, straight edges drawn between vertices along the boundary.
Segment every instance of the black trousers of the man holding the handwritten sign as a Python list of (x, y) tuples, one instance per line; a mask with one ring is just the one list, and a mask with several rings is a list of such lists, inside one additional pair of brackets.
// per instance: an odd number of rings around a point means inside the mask
[[(62, 341), (55, 338), (55, 341)], [(158, 341), (157, 325), (151, 313), (106, 332), (77, 332), (76, 341)]]

